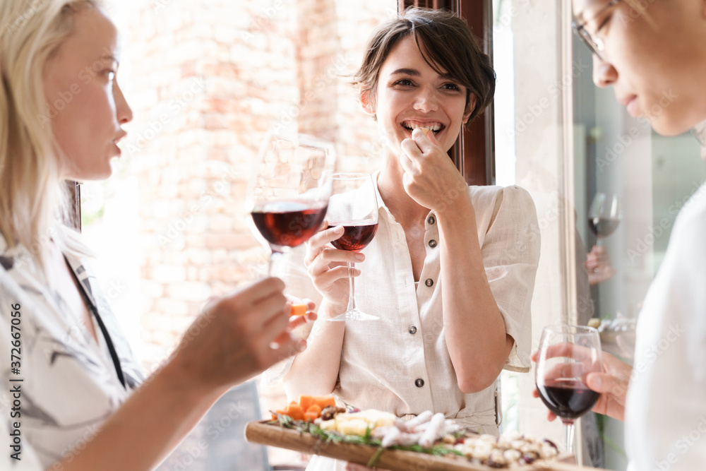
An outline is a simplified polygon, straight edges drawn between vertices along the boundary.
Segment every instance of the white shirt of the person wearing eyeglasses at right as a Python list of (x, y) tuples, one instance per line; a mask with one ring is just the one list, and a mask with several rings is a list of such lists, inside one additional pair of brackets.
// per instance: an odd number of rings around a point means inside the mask
[(684, 205), (640, 312), (630, 470), (706, 469), (706, 185)]

